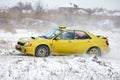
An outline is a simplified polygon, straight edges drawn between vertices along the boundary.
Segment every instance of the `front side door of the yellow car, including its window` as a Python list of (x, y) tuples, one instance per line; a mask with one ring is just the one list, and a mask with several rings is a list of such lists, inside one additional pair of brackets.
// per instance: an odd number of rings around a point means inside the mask
[(53, 40), (52, 50), (53, 52), (61, 54), (71, 54), (74, 52), (74, 31), (64, 31), (59, 36), (59, 40)]

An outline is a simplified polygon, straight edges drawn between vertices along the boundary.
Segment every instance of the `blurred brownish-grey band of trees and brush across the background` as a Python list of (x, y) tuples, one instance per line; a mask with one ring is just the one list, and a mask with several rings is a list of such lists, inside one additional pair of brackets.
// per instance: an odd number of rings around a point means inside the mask
[[(70, 3), (71, 7), (60, 7), (58, 9), (47, 10), (43, 8), (41, 1), (42, 0), (38, 0), (34, 5), (35, 7), (33, 7), (30, 2), (18, 2), (16, 6), (10, 8), (6, 7), (5, 9), (1, 8), (0, 23), (2, 23), (1, 19), (4, 19), (4, 21), (7, 23), (8, 19), (20, 20), (24, 18), (32, 18), (51, 21), (60, 25), (64, 24), (68, 26), (76, 26), (79, 24), (84, 26), (87, 24), (96, 25), (96, 22), (100, 22), (102, 20), (110, 20), (113, 21), (114, 25), (120, 25), (120, 15), (107, 15), (120, 13), (120, 10), (110, 11), (103, 8), (79, 8), (79, 6), (74, 3)], [(98, 15), (95, 13), (98, 13)], [(99, 15), (99, 13), (103, 15)]]

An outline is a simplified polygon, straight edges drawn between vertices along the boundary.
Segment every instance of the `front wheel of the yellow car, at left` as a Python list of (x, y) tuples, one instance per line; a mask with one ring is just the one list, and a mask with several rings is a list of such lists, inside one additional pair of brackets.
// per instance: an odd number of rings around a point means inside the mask
[(50, 50), (47, 46), (41, 45), (36, 48), (35, 56), (36, 57), (47, 57), (50, 55)]

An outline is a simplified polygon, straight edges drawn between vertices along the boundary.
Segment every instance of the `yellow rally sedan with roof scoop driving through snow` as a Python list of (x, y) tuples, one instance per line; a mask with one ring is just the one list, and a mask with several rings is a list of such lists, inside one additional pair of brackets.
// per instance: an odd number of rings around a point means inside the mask
[(64, 26), (43, 36), (21, 38), (15, 47), (24, 54), (36, 57), (81, 53), (101, 56), (110, 50), (107, 37)]

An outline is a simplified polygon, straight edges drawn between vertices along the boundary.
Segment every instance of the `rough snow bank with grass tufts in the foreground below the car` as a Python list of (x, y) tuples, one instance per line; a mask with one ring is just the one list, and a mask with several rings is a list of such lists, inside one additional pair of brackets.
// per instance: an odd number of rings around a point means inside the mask
[[(1, 80), (119, 80), (120, 70), (111, 62), (82, 57), (47, 58), (0, 56)], [(7, 64), (6, 64), (7, 63)]]

